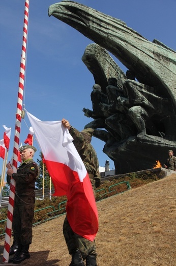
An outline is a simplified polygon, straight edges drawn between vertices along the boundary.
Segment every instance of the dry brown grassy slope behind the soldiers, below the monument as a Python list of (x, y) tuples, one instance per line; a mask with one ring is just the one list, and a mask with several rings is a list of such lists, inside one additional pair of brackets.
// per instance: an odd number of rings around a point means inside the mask
[[(98, 266), (176, 265), (176, 174), (97, 202)], [(68, 266), (61, 217), (33, 228), (31, 258), (20, 265)], [(1, 258), (4, 240), (0, 242)]]

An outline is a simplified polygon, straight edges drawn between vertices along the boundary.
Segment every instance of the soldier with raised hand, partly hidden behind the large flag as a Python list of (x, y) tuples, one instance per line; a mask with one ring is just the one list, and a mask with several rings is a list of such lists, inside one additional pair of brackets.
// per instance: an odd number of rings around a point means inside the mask
[[(68, 128), (70, 135), (74, 139), (73, 143), (85, 165), (87, 173), (89, 174), (95, 195), (95, 189), (100, 186), (101, 177), (97, 154), (91, 145), (94, 129), (86, 128), (79, 132), (76, 128), (70, 126), (68, 120), (63, 119), (62, 123)], [(90, 241), (81, 237), (80, 235), (75, 234), (68, 223), (67, 216), (64, 221), (63, 233), (69, 254), (72, 255), (70, 266), (84, 266), (84, 259), (86, 261), (86, 266), (97, 266), (95, 240)]]

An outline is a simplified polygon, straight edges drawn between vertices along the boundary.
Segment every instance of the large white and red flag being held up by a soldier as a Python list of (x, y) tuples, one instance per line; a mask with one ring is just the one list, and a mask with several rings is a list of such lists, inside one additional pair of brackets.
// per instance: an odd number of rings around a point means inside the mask
[(51, 176), (54, 196), (67, 195), (67, 218), (76, 234), (94, 240), (98, 211), (89, 175), (61, 121), (41, 121), (26, 112)]

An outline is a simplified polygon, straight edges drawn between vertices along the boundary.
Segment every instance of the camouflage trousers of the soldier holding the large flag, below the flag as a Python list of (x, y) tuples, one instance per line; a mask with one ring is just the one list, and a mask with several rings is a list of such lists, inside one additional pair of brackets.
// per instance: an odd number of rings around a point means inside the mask
[(97, 256), (95, 240), (90, 241), (80, 235), (75, 234), (70, 227), (67, 216), (64, 220), (63, 233), (70, 255), (74, 254), (75, 251), (79, 249), (83, 259), (85, 259), (88, 255)]

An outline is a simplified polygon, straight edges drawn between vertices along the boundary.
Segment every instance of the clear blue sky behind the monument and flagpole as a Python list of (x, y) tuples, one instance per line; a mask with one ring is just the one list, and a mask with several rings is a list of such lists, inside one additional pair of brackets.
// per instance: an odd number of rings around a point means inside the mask
[[(119, 18), (146, 39), (153, 41), (156, 38), (176, 50), (175, 0), (77, 2)], [(0, 139), (3, 139), (3, 125), (12, 127), (8, 160), (12, 157), (14, 145), (24, 3), (24, 0), (1, 0), (0, 3)], [(23, 104), (40, 120), (66, 118), (72, 126), (82, 130), (85, 124), (91, 122), (91, 118), (84, 116), (82, 108), (92, 109), (90, 94), (95, 82), (81, 57), (86, 46), (93, 42), (62, 21), (48, 16), (48, 7), (55, 3), (53, 0), (30, 0)], [(125, 66), (118, 59), (115, 61), (126, 72)], [(21, 123), (22, 144), (30, 126), (25, 116)], [(102, 152), (104, 143), (93, 138), (92, 144), (100, 166), (109, 160), (112, 169), (113, 162)], [(34, 145), (40, 151), (36, 141)], [(34, 159), (37, 158), (38, 152)], [(3, 159), (0, 158), (0, 173), (2, 166)]]

